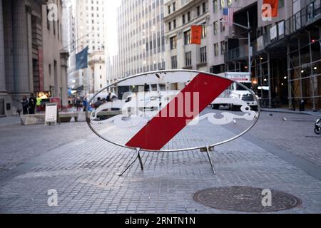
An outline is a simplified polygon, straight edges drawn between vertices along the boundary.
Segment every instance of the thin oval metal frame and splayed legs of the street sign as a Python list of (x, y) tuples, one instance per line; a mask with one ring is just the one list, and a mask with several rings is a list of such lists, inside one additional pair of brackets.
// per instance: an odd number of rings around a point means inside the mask
[(139, 160), (140, 162), (140, 165), (141, 165), (141, 170), (143, 170), (143, 162), (141, 160), (141, 152), (163, 152), (163, 153), (167, 153), (167, 152), (184, 152), (184, 151), (191, 151), (191, 150), (200, 150), (201, 152), (206, 152), (207, 155), (208, 155), (208, 160), (210, 162), (210, 165), (213, 169), (213, 172), (214, 174), (216, 175), (216, 171), (215, 171), (215, 167), (214, 167), (214, 163), (213, 163), (213, 160), (210, 156), (210, 152), (214, 151), (215, 147), (219, 146), (219, 145), (223, 145), (223, 144), (226, 144), (228, 142), (232, 142), (240, 137), (242, 137), (243, 135), (245, 135), (246, 133), (248, 133), (255, 125), (256, 123), (258, 123), (258, 120), (260, 118), (260, 113), (261, 113), (261, 108), (260, 108), (260, 101), (258, 100), (258, 98), (256, 97), (255, 93), (250, 90), (249, 88), (247, 88), (246, 86), (244, 86), (242, 83), (238, 83), (237, 81), (233, 81), (229, 78), (225, 78), (225, 77), (222, 77), (222, 76), (218, 76), (218, 75), (215, 75), (213, 73), (208, 73), (208, 72), (205, 72), (205, 71), (193, 71), (193, 70), (164, 70), (164, 71), (151, 71), (151, 72), (146, 72), (146, 73), (139, 73), (139, 74), (136, 74), (134, 76), (130, 76), (128, 78), (123, 78), (121, 79), (120, 81), (117, 81), (116, 83), (113, 83), (109, 86), (107, 86), (106, 88), (103, 88), (102, 90), (98, 91), (98, 93), (96, 93), (95, 95), (93, 95), (93, 97), (91, 98), (91, 100), (88, 101), (88, 104), (92, 103), (92, 101), (94, 100), (94, 98), (96, 98), (96, 96), (99, 94), (99, 93), (102, 93), (104, 90), (108, 90), (108, 88), (112, 88), (114, 86), (117, 86), (119, 83), (123, 82), (123, 81), (127, 81), (127, 80), (130, 80), (130, 79), (133, 79), (133, 78), (138, 78), (140, 76), (147, 76), (147, 75), (151, 75), (151, 74), (158, 74), (158, 73), (175, 73), (175, 72), (186, 72), (186, 73), (203, 73), (203, 74), (206, 74), (208, 76), (215, 76), (217, 78), (223, 78), (223, 79), (227, 79), (233, 83), (237, 83), (239, 86), (241, 86), (242, 88), (245, 88), (246, 90), (248, 90), (251, 95), (253, 95), (253, 98), (255, 99), (255, 101), (258, 103), (258, 111), (257, 111), (257, 115), (256, 115), (256, 118), (255, 118), (255, 121), (252, 125), (250, 125), (249, 128), (247, 128), (243, 133), (240, 133), (239, 135), (236, 135), (235, 137), (233, 138), (230, 138), (228, 140), (225, 140), (223, 142), (218, 142), (218, 143), (215, 143), (213, 145), (204, 145), (204, 146), (201, 146), (201, 147), (190, 147), (190, 148), (183, 148), (183, 149), (176, 149), (176, 150), (144, 150), (144, 149), (141, 149), (141, 148), (136, 148), (136, 147), (128, 147), (126, 145), (121, 145), (121, 144), (118, 144), (116, 142), (112, 142), (111, 140), (108, 140), (106, 138), (104, 138), (102, 135), (100, 135), (99, 133), (96, 132), (95, 129), (93, 129), (93, 127), (91, 126), (91, 120), (88, 116), (88, 108), (86, 109), (86, 122), (88, 124), (88, 127), (91, 129), (91, 131), (98, 136), (98, 138), (101, 138), (102, 140), (105, 140), (106, 142), (109, 142), (113, 145), (116, 145), (118, 147), (124, 147), (126, 149), (131, 149), (131, 150), (135, 150), (137, 152), (137, 157), (135, 160), (133, 160), (133, 162), (130, 162), (130, 165), (128, 165), (128, 167), (126, 167), (126, 170), (124, 170), (120, 176), (122, 176), (135, 162), (136, 160)]

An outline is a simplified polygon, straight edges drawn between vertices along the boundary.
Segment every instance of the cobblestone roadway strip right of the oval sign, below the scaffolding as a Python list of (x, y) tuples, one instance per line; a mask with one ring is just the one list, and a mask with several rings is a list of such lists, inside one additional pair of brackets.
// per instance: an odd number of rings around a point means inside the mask
[[(321, 167), (321, 135), (314, 133), (316, 120), (313, 115), (263, 112), (250, 135)], [(243, 123), (239, 121), (235, 128), (244, 128)]]

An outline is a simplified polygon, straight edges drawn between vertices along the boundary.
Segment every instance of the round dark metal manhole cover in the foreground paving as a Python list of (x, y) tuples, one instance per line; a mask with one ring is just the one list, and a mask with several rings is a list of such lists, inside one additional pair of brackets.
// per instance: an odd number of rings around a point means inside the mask
[(263, 189), (256, 187), (218, 187), (196, 192), (193, 199), (215, 209), (235, 212), (277, 212), (302, 204), (301, 199), (285, 192), (271, 190), (272, 206), (264, 207)]

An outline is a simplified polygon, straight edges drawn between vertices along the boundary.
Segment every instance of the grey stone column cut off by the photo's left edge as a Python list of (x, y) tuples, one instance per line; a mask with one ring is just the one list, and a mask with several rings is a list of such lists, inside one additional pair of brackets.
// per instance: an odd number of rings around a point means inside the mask
[(6, 67), (4, 65), (4, 15), (0, 0), (0, 93), (6, 92)]

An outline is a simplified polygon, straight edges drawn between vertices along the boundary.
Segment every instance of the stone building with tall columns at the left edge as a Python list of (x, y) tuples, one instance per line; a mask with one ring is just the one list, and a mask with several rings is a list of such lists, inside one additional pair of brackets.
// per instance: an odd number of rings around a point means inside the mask
[[(57, 6), (53, 21), (46, 4)], [(16, 114), (24, 95), (43, 90), (68, 105), (67, 56), (61, 45), (60, 1), (0, 1), (0, 116)]]

